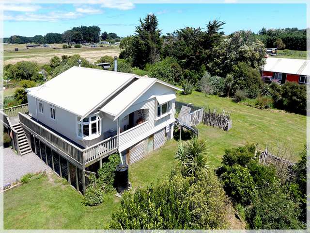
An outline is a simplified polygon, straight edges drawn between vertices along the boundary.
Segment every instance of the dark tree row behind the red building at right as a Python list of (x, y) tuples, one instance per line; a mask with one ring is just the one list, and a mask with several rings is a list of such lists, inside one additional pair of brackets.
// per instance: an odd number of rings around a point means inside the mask
[(307, 30), (298, 28), (265, 29), (253, 33), (254, 37), (263, 41), (266, 48), (288, 50), (307, 50)]

